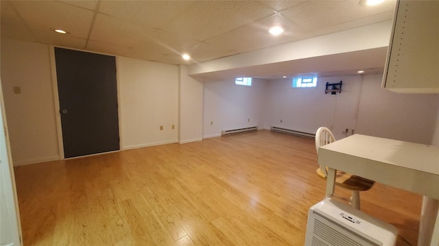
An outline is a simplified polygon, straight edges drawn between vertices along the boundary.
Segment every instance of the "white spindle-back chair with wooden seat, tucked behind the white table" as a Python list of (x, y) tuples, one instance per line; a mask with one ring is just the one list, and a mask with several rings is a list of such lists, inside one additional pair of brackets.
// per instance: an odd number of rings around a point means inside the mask
[[(316, 132), (317, 154), (318, 148), (320, 148), (320, 146), (332, 143), (333, 141), (335, 141), (335, 137), (327, 127), (322, 126), (318, 128)], [(320, 166), (317, 169), (317, 174), (318, 176), (320, 176), (320, 178), (326, 180), (328, 176), (328, 168), (325, 166)], [(370, 188), (373, 187), (375, 181), (368, 180), (367, 178), (361, 178), (359, 176), (341, 171), (337, 171), (335, 177), (335, 185), (352, 191), (351, 205), (359, 210), (359, 191), (368, 191)]]

